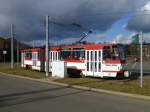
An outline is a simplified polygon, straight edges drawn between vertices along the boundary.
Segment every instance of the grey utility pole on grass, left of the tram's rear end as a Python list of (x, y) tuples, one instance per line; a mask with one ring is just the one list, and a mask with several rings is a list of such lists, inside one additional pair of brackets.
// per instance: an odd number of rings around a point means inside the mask
[(11, 69), (14, 68), (14, 25), (11, 24)]

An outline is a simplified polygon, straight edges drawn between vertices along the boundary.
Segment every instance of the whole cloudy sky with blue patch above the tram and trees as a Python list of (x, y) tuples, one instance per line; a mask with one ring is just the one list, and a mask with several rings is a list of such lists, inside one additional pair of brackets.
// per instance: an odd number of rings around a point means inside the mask
[(92, 42), (128, 43), (140, 31), (150, 42), (149, 0), (0, 0), (0, 36), (9, 37), (13, 23), (17, 39), (39, 45), (46, 15), (51, 42), (74, 42), (89, 30), (86, 40)]

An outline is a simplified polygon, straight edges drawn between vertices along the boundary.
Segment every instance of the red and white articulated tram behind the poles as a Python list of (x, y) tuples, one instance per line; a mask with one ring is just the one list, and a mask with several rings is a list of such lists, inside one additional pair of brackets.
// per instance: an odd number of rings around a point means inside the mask
[[(22, 67), (44, 70), (45, 53), (41, 48), (22, 50)], [(29, 55), (30, 54), (30, 55)], [(69, 73), (93, 77), (128, 75), (124, 70), (125, 57), (120, 46), (114, 44), (82, 44), (51, 47), (51, 62), (65, 61)], [(40, 68), (42, 67), (42, 68)]]

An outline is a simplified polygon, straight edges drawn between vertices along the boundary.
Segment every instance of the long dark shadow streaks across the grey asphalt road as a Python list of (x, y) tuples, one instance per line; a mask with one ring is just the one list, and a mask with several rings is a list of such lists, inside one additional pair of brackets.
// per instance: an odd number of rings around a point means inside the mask
[(85, 92), (85, 90), (77, 90), (77, 91), (72, 91), (72, 92), (70, 91), (65, 94), (59, 93), (60, 95), (51, 94), (51, 92), (54, 92), (54, 91), (57, 92), (59, 90), (63, 90), (67, 88), (70, 88), (70, 87), (69, 86), (68, 87), (56, 87), (56, 88), (50, 88), (50, 89), (1, 95), (0, 96), (0, 108), (20, 105), (20, 104), (25, 104), (25, 103), (30, 103), (30, 102), (39, 102), (43, 100), (56, 99), (56, 98), (60, 98), (64, 96), (69, 96), (69, 95), (74, 95), (74, 94)]

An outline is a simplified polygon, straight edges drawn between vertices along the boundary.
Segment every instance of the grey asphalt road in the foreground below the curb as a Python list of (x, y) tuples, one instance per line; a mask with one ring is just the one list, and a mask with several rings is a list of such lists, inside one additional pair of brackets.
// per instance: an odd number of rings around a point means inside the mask
[(0, 112), (149, 112), (150, 102), (0, 75)]

